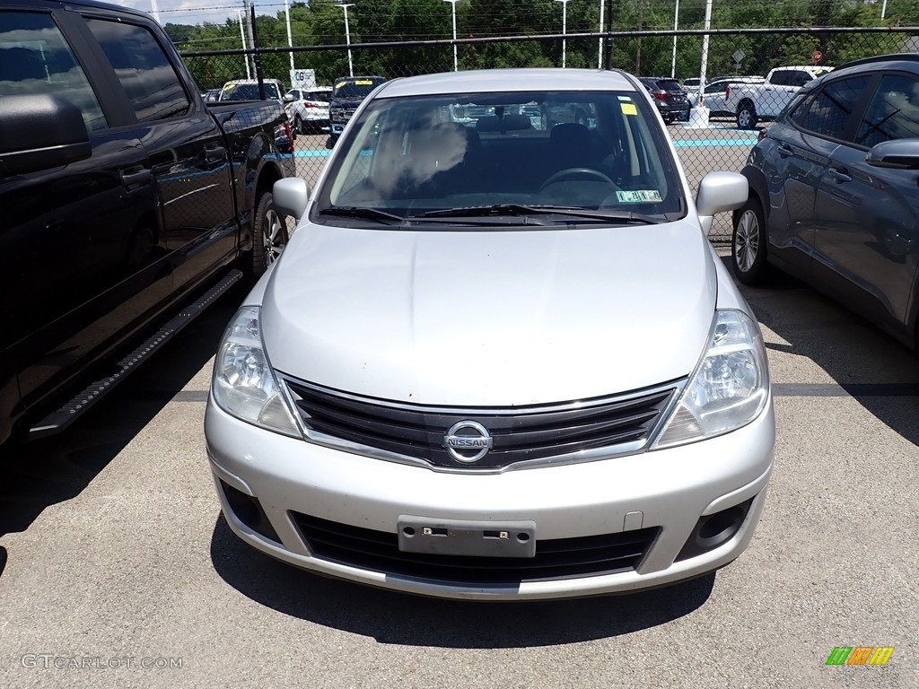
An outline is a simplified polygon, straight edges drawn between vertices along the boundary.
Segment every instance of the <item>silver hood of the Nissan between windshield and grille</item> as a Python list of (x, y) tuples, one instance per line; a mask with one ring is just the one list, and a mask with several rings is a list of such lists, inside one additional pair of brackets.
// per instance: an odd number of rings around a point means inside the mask
[(435, 227), (301, 226), (263, 291), (272, 366), (452, 406), (599, 397), (696, 367), (717, 297), (698, 226)]

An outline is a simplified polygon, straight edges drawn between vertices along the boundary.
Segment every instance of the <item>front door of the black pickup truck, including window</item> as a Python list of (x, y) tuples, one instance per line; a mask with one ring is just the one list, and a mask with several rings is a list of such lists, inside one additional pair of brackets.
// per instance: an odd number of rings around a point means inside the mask
[[(18, 409), (56, 390), (169, 299), (150, 161), (96, 70), (79, 17), (0, 8), (3, 96), (52, 94), (80, 108), (92, 155), (0, 176), (0, 386)], [(6, 396), (7, 399), (8, 396)]]

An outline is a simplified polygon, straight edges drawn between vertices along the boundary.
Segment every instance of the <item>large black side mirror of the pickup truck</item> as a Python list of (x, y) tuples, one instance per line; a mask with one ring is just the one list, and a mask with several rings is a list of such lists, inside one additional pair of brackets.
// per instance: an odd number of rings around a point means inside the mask
[(25, 175), (92, 155), (80, 108), (51, 94), (5, 96), (0, 108), (0, 175)]

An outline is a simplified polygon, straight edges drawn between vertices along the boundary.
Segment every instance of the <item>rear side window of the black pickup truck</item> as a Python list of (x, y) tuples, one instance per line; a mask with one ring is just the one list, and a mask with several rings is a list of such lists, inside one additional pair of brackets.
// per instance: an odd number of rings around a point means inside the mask
[(141, 122), (181, 117), (191, 102), (172, 62), (146, 28), (89, 19), (86, 24), (115, 68)]

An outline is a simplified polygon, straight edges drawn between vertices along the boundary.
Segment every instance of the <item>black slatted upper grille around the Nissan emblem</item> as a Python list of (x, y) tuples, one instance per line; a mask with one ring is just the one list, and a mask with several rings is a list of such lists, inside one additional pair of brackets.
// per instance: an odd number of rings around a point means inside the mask
[[(435, 467), (502, 469), (564, 457), (577, 461), (641, 449), (678, 384), (613, 398), (552, 406), (456, 409), (392, 404), (325, 390), (286, 378), (301, 419), (332, 445), (368, 448), (371, 455), (413, 457)], [(482, 424), (492, 449), (474, 463), (444, 446), (459, 422)]]

